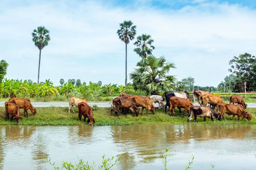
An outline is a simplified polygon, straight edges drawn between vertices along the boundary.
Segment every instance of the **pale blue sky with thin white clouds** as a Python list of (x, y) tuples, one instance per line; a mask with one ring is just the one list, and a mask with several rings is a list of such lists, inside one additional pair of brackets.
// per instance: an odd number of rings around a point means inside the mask
[[(124, 20), (136, 25), (136, 36), (149, 34), (156, 49), (175, 64), (169, 74), (189, 76), (195, 85), (216, 87), (228, 72), (228, 61), (256, 53), (256, 1), (0, 1), (0, 60), (8, 62), (6, 78), (37, 81), (39, 50), (31, 32), (50, 31), (42, 50), (40, 81), (81, 79), (102, 83), (125, 81), (125, 43), (116, 31)], [(127, 48), (127, 72), (140, 57)], [(131, 82), (131, 80), (128, 80)]]

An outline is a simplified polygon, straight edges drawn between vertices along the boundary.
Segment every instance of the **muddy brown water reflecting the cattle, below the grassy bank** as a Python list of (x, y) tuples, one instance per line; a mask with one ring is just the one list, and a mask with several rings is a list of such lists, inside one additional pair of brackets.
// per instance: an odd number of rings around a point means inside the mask
[(0, 169), (51, 169), (46, 157), (57, 166), (78, 159), (98, 165), (104, 154), (120, 157), (113, 169), (164, 169), (165, 148), (170, 169), (184, 169), (191, 155), (194, 169), (255, 169), (256, 126), (0, 126)]

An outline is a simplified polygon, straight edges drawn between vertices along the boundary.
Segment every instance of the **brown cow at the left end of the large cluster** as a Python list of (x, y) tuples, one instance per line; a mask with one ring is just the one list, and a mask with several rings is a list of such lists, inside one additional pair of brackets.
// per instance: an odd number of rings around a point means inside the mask
[(135, 111), (137, 117), (140, 113), (140, 110), (138, 109), (138, 107), (134, 103), (133, 99), (131, 99), (127, 96), (116, 97), (115, 99), (113, 99), (113, 105), (114, 105), (116, 116), (118, 115), (118, 111), (120, 110), (120, 108), (124, 108), (125, 117), (126, 117), (126, 114), (127, 114), (128, 110)]

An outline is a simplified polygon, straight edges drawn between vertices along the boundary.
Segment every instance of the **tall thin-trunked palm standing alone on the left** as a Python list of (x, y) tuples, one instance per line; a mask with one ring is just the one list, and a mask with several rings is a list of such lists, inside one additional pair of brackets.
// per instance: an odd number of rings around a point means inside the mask
[(48, 41), (51, 40), (49, 31), (45, 27), (37, 27), (32, 32), (32, 40), (35, 42), (35, 46), (39, 49), (39, 64), (38, 64), (38, 77), (37, 83), (39, 83), (39, 73), (40, 73), (40, 61), (41, 61), (41, 50), (44, 46), (48, 45)]

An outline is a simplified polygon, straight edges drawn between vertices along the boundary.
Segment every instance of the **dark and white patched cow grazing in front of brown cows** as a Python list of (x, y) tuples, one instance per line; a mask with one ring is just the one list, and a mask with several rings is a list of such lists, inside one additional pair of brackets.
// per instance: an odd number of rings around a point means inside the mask
[(211, 118), (213, 121), (213, 118), (216, 118), (217, 120), (221, 120), (221, 115), (217, 113), (216, 111), (212, 110), (210, 107), (204, 107), (204, 106), (195, 106), (190, 109), (189, 115), (188, 115), (188, 122), (189, 120), (192, 120), (194, 117), (194, 122), (196, 122), (196, 118), (204, 118), (204, 121), (206, 118)]

